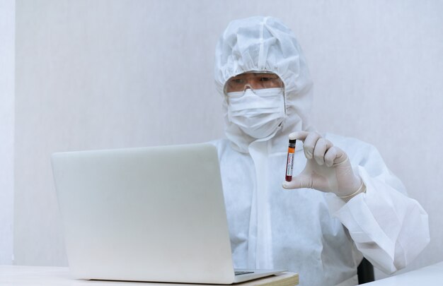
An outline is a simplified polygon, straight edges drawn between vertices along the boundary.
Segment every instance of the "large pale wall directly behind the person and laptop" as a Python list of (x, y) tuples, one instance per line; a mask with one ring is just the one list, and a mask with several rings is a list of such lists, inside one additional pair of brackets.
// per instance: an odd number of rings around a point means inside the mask
[(67, 265), (50, 153), (223, 136), (214, 47), (254, 15), (298, 36), (318, 130), (376, 145), (429, 213), (406, 270), (443, 260), (442, 1), (18, 0), (16, 264)]

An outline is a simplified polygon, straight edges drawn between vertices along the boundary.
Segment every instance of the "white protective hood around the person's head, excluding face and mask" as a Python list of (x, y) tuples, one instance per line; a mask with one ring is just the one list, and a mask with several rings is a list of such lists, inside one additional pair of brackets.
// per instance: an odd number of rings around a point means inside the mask
[[(226, 81), (247, 71), (270, 71), (284, 83), (286, 116), (277, 131), (264, 139), (243, 133), (228, 117)], [(271, 153), (281, 151), (287, 147), (290, 132), (311, 130), (312, 82), (306, 59), (294, 33), (276, 18), (257, 16), (229, 23), (215, 51), (215, 83), (224, 97), (226, 137), (240, 152), (248, 153), (254, 141), (269, 141)]]

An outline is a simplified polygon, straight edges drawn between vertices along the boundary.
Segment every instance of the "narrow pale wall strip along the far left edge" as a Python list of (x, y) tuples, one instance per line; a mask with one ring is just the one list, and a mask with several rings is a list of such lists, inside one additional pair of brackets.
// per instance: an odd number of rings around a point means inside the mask
[(15, 8), (0, 0), (0, 265), (13, 260)]

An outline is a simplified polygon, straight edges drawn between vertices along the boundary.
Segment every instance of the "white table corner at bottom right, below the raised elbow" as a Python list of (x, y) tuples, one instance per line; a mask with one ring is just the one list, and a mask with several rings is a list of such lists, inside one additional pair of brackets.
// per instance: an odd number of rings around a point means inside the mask
[(389, 278), (366, 283), (364, 286), (441, 286), (443, 285), (443, 262)]

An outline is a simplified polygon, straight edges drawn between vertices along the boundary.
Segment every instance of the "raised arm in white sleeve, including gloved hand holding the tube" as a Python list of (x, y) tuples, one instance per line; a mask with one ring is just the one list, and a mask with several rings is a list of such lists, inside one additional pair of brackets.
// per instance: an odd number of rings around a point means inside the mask
[(425, 248), (430, 240), (427, 213), (405, 195), (403, 184), (376, 148), (360, 141), (343, 141), (338, 148), (332, 143), (335, 138), (330, 141), (313, 132), (289, 137), (304, 141), (307, 162), (304, 171), (283, 187), (328, 193), (330, 213), (347, 227), (357, 249), (376, 268), (393, 273)]

